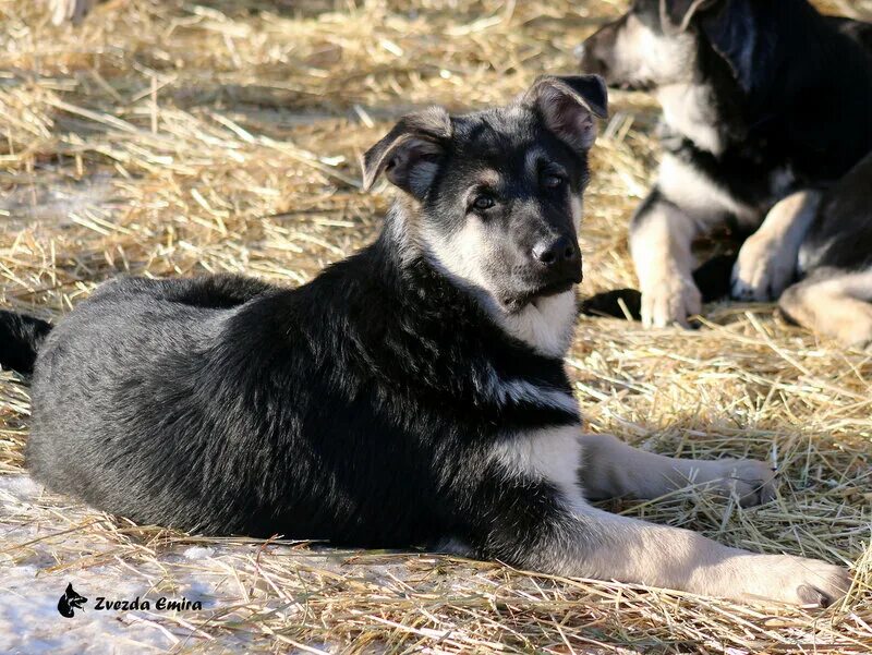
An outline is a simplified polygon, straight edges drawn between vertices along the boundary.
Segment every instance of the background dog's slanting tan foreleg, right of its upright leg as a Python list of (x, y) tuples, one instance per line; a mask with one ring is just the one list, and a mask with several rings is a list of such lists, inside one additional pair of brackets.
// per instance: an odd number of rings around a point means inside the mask
[(770, 210), (739, 251), (732, 268), (732, 298), (763, 302), (782, 294), (796, 276), (799, 246), (820, 202), (820, 192), (801, 191)]

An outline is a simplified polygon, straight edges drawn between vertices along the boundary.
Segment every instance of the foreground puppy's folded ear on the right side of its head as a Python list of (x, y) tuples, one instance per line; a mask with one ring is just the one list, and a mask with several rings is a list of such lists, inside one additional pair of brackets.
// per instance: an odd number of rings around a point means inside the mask
[(577, 150), (589, 150), (596, 141), (594, 117), (608, 116), (608, 90), (600, 75), (543, 75), (523, 95), (523, 102)]

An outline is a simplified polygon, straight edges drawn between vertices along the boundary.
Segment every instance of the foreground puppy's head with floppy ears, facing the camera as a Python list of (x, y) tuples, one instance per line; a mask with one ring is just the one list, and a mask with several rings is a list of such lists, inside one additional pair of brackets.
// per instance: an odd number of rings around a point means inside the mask
[(364, 156), (364, 184), (384, 172), (407, 194), (403, 242), (520, 312), (581, 281), (588, 150), (606, 102), (596, 76), (545, 76), (508, 107), (407, 116)]

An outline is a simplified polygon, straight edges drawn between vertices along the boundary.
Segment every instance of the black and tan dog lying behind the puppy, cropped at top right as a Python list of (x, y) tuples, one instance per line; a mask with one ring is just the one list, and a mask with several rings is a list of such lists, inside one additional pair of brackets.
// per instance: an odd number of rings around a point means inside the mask
[[(686, 325), (701, 310), (692, 242), (731, 223), (755, 232), (734, 296), (776, 299), (806, 278), (784, 296), (790, 316), (872, 341), (872, 201), (843, 185), (833, 193), (855, 197), (853, 208), (835, 195), (821, 208), (821, 192), (872, 151), (870, 49), (872, 25), (822, 16), (806, 0), (637, 0), (584, 43), (586, 71), (663, 107), (657, 183), (630, 226), (646, 326)], [(863, 170), (851, 181), (869, 189)], [(824, 305), (853, 325), (808, 319)]]

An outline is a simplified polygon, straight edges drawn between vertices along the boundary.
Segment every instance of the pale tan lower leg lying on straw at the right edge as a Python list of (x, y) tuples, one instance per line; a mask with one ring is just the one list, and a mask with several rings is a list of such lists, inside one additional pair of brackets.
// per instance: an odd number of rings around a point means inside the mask
[(872, 347), (872, 269), (790, 287), (779, 306), (799, 325), (844, 345)]

